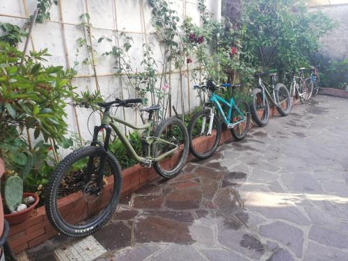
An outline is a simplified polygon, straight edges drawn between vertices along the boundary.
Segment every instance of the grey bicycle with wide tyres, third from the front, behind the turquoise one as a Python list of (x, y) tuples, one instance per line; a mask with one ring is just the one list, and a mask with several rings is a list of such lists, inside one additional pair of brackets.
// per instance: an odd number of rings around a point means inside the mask
[[(271, 85), (262, 80), (262, 77), (265, 76), (271, 77)], [(269, 120), (269, 101), (276, 106), (280, 116), (287, 116), (291, 110), (290, 95), (284, 84), (276, 84), (278, 78), (276, 70), (260, 72), (255, 74), (254, 77), (258, 79), (257, 88), (251, 92), (253, 97), (251, 114), (255, 123), (260, 127), (267, 125)]]

